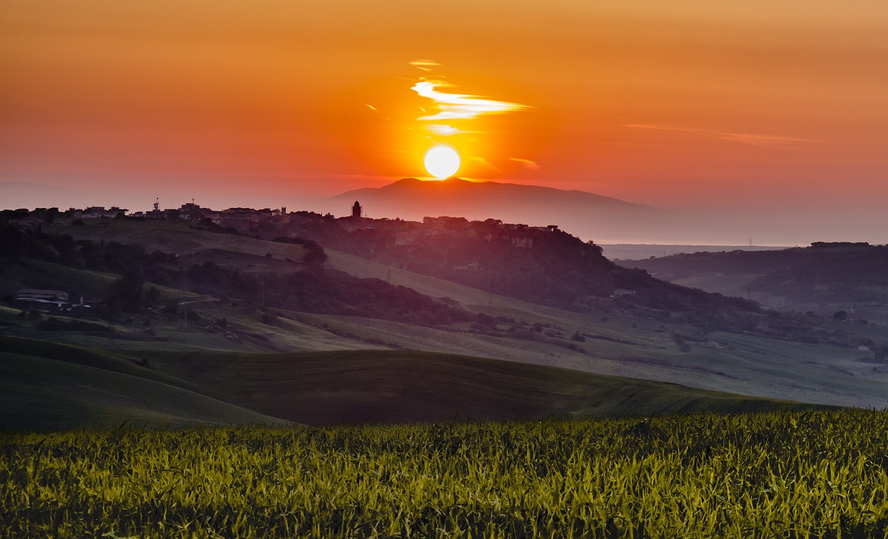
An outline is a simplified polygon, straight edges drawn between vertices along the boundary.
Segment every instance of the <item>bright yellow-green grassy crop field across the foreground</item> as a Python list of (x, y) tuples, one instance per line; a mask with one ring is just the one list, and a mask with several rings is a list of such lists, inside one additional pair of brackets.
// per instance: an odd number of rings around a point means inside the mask
[(888, 413), (0, 435), (4, 537), (884, 537)]

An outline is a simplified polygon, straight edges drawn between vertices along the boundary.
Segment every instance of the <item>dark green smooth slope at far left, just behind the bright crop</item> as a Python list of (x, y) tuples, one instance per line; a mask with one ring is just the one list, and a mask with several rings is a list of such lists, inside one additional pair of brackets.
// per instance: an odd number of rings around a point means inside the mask
[(0, 431), (284, 423), (144, 371), (111, 354), (3, 339)]

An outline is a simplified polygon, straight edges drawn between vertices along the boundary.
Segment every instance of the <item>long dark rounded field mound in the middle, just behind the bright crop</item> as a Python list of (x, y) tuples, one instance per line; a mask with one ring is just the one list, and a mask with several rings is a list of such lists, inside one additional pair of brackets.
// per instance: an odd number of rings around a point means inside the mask
[(651, 416), (811, 405), (446, 353), (163, 353), (165, 374), (218, 398), (305, 424)]

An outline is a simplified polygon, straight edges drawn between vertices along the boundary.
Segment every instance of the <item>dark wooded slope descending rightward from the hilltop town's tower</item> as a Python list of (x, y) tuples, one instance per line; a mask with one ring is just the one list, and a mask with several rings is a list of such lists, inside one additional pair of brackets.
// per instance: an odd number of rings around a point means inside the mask
[[(556, 226), (534, 227), (489, 218), (391, 219), (297, 216), (289, 222), (258, 227), (263, 237), (299, 237), (385, 266), (515, 297), (538, 305), (588, 311), (598, 298), (622, 297), (630, 305), (675, 310), (711, 319), (724, 315), (738, 329), (755, 304), (700, 290), (677, 287), (631, 271)], [(730, 320), (726, 320), (730, 319)], [(754, 330), (755, 323), (745, 328)]]

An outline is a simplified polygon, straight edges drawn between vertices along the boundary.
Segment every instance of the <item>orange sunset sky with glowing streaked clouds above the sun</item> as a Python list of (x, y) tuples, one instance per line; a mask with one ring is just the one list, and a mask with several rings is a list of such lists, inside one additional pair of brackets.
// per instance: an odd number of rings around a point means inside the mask
[(726, 243), (888, 242), (881, 0), (5, 0), (0, 73), (4, 207), (345, 214), (446, 145)]

